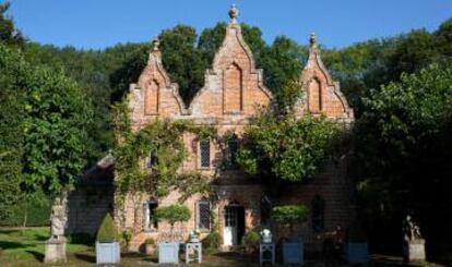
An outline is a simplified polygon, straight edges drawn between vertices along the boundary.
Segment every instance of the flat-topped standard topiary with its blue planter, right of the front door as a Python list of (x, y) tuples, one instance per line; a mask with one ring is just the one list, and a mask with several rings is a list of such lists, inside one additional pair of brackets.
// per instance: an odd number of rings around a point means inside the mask
[[(272, 218), (278, 223), (289, 227), (290, 236), (294, 236), (294, 227), (308, 219), (308, 208), (304, 205), (276, 206), (272, 209)], [(304, 243), (300, 239), (290, 238), (283, 241), (283, 262), (284, 264), (302, 264)]]

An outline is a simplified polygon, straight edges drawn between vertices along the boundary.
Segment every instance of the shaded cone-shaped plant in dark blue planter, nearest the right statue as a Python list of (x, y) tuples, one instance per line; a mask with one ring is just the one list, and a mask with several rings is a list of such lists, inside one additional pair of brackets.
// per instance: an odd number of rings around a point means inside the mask
[(357, 220), (355, 220), (348, 229), (348, 242), (345, 246), (345, 257), (349, 264), (364, 264), (369, 259), (366, 234)]

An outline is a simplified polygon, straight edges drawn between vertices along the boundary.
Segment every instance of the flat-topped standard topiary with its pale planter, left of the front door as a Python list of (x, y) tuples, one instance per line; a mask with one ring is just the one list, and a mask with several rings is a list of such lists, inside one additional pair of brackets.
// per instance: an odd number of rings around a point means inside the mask
[(170, 227), (170, 239), (166, 242), (158, 242), (158, 263), (177, 264), (179, 263), (179, 240), (174, 235), (176, 222), (188, 221), (191, 217), (190, 209), (182, 205), (170, 205), (155, 210), (157, 220), (167, 221)]

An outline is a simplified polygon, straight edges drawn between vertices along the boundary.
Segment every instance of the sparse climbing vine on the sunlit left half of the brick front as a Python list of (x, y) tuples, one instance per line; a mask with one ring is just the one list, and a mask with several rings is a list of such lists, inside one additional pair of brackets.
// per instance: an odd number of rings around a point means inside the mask
[[(119, 143), (115, 150), (116, 180), (118, 192), (147, 192), (155, 196), (166, 196), (171, 190), (182, 192), (181, 199), (192, 193), (206, 189), (205, 179), (199, 172), (180, 172), (179, 167), (187, 157), (181, 136), (194, 133), (198, 136), (214, 136), (215, 130), (194, 125), (191, 121), (156, 120), (138, 132), (130, 132), (126, 105), (118, 107), (117, 137)], [(157, 162), (143, 168), (143, 161), (151, 153), (157, 155)], [(187, 186), (190, 184), (190, 186)], [(194, 191), (194, 192), (193, 192)]]

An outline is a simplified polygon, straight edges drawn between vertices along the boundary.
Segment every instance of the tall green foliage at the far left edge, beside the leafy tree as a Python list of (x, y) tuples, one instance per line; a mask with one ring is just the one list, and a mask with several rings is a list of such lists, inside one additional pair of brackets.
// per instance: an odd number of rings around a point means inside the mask
[(0, 220), (11, 216), (20, 195), (25, 75), (23, 57), (0, 44)]

